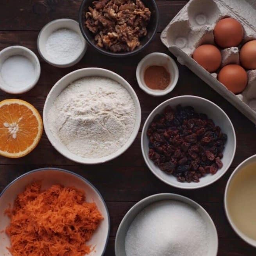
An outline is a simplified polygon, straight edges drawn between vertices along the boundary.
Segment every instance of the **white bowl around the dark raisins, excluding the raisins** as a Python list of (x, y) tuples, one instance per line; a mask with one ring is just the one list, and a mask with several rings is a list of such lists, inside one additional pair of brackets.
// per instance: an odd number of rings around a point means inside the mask
[[(199, 183), (181, 183), (177, 181), (177, 178), (173, 175), (168, 175), (165, 172), (161, 171), (158, 166), (156, 166), (150, 159), (149, 159), (149, 139), (147, 138), (147, 129), (151, 122), (153, 121), (154, 117), (162, 113), (166, 106), (176, 107), (177, 105), (181, 104), (181, 106), (192, 106), (195, 108), (195, 111), (198, 113), (205, 113), (208, 115), (209, 118), (213, 120), (215, 125), (220, 126), (222, 132), (227, 134), (227, 142), (224, 149), (224, 156), (222, 158), (223, 167), (218, 170), (218, 172), (214, 175), (208, 174), (200, 179)], [(236, 134), (233, 124), (231, 123), (229, 117), (226, 113), (218, 107), (213, 102), (206, 100), (205, 98), (196, 97), (196, 96), (179, 96), (170, 98), (165, 102), (161, 103), (157, 106), (147, 118), (141, 135), (141, 150), (143, 154), (143, 158), (156, 177), (158, 177), (161, 181), (165, 182), (168, 185), (174, 186), (176, 188), (184, 188), (184, 189), (193, 189), (193, 188), (202, 188), (204, 186), (208, 186), (211, 183), (217, 181), (225, 172), (228, 170), (229, 166), (231, 165), (235, 152), (236, 152)]]

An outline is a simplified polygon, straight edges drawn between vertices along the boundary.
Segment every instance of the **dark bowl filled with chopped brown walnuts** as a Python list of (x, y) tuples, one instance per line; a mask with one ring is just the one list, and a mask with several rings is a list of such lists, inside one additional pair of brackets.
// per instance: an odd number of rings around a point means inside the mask
[[(84, 6), (83, 29), (91, 32), (94, 43), (102, 50), (113, 53), (132, 52), (139, 46), (145, 45), (141, 44), (143, 39), (150, 41), (156, 33), (158, 9), (154, 1), (147, 2), (150, 7), (155, 8), (153, 8), (155, 21), (151, 20), (152, 11), (141, 0), (93, 1), (87, 9)], [(149, 23), (152, 23), (154, 29), (150, 35), (147, 29)], [(88, 33), (84, 31), (84, 34), (88, 39)]]

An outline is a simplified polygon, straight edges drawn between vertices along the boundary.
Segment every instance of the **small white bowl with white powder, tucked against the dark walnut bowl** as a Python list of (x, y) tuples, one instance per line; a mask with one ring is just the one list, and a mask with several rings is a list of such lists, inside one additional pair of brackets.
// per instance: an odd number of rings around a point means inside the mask
[(37, 41), (38, 52), (49, 64), (66, 68), (78, 63), (87, 50), (79, 23), (71, 19), (58, 19), (41, 29)]

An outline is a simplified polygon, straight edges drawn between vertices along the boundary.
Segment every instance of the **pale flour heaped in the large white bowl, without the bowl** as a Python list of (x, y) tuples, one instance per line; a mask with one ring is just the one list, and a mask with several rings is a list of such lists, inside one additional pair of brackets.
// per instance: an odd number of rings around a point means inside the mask
[(85, 77), (60, 93), (48, 112), (48, 122), (68, 150), (84, 158), (100, 158), (125, 144), (135, 116), (132, 97), (118, 82)]

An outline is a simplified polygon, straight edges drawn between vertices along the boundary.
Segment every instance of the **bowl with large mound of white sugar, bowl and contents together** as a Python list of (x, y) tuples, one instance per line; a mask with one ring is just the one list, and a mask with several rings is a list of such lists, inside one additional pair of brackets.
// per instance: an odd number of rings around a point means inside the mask
[(116, 256), (216, 256), (218, 235), (202, 206), (161, 193), (136, 203), (118, 227)]

